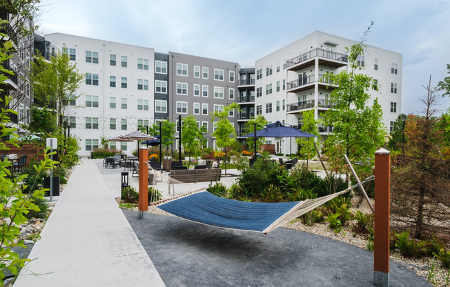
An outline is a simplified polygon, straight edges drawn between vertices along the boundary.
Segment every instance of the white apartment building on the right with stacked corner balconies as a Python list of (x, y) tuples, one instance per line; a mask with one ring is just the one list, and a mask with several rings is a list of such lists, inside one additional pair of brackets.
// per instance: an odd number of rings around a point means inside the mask
[[(315, 119), (321, 119), (330, 108), (329, 95), (335, 88), (323, 77), (349, 69), (345, 48), (354, 43), (357, 42), (316, 31), (255, 61), (255, 115), (298, 127), (306, 110), (314, 110)], [(364, 66), (361, 72), (380, 85), (378, 91), (369, 92), (368, 104), (378, 98), (383, 123), (389, 131), (401, 110), (402, 55), (366, 45), (359, 61)], [(326, 138), (332, 128), (320, 126), (320, 135)], [(266, 142), (275, 144), (276, 152), (288, 153), (291, 146), (292, 152), (297, 150), (295, 139)]]

